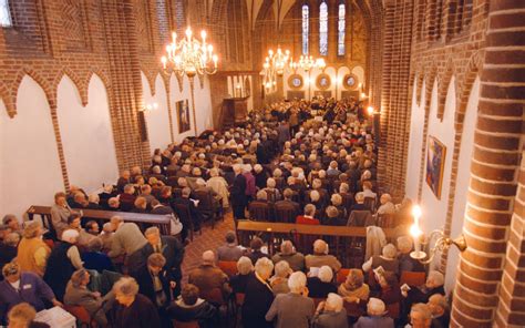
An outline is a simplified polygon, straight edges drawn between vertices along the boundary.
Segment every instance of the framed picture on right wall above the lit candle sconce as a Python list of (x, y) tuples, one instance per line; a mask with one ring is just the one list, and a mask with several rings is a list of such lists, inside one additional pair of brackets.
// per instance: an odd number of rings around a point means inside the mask
[(434, 136), (429, 136), (425, 181), (437, 199), (441, 199), (441, 187), (443, 184), (445, 158), (446, 146)]

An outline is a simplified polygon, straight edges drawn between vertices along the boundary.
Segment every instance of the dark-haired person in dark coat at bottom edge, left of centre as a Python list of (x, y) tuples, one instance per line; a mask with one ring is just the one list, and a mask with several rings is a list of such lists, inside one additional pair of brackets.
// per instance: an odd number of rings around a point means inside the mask
[(218, 310), (207, 300), (198, 298), (198, 287), (186, 284), (181, 297), (167, 308), (171, 319), (182, 322), (198, 321), (200, 328), (218, 327)]

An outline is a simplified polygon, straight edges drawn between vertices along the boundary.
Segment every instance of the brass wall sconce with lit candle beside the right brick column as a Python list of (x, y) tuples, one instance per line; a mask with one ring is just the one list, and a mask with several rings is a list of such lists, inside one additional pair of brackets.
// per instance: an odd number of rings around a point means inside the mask
[[(412, 208), (412, 216), (414, 217), (414, 224), (410, 227), (410, 234), (414, 239), (414, 252), (410, 253), (410, 257), (413, 259), (416, 259), (422, 264), (430, 264), (434, 259), (436, 252), (441, 253), (446, 250), (452, 245), (455, 245), (460, 252), (466, 249), (465, 236), (461, 235), (460, 237), (452, 239), (446, 237), (442, 229), (433, 230), (430, 233), (429, 238), (425, 239), (419, 224), (421, 217), (421, 207), (419, 205), (414, 205)], [(435, 240), (434, 247), (430, 248), (429, 256), (426, 256), (426, 253), (421, 250), (421, 244), (429, 244), (435, 236), (437, 236), (437, 239)], [(429, 258), (425, 259), (426, 257)]]

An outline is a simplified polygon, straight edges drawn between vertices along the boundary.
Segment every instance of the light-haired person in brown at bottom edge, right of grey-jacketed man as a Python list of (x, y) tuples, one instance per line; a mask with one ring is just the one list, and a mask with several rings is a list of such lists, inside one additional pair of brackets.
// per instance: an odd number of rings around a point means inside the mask
[(313, 317), (313, 328), (348, 328), (347, 310), (341, 296), (330, 293), (327, 300), (319, 303)]

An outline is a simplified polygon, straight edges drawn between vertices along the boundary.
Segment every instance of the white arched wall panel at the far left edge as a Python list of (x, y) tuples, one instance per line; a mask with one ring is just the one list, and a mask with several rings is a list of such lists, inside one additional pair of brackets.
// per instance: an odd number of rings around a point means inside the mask
[(40, 85), (24, 76), (17, 115), (0, 101), (0, 214), (21, 215), (32, 204), (52, 204), (63, 189), (50, 107)]

